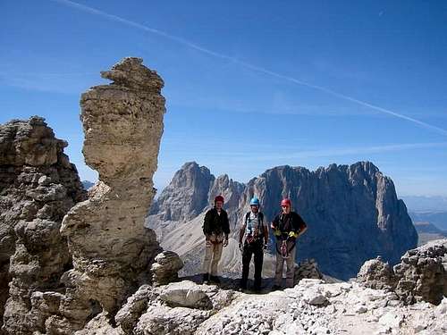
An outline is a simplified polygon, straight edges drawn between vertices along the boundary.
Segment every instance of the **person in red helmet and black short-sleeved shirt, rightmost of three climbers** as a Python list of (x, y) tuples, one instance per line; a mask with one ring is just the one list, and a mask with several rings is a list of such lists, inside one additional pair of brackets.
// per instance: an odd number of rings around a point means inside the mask
[(274, 273), (274, 289), (281, 288), (283, 281), (283, 265), (287, 264), (286, 286), (293, 287), (296, 240), (308, 230), (306, 222), (291, 211), (291, 200), (281, 201), (281, 214), (276, 215), (272, 222), (272, 230), (276, 237), (276, 268)]

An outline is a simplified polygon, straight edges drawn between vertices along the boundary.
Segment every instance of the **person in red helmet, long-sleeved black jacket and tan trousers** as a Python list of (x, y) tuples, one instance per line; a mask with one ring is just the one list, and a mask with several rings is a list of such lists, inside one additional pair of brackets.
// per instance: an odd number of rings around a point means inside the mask
[(205, 259), (203, 262), (203, 281), (219, 283), (217, 264), (222, 256), (223, 247), (228, 246), (230, 222), (228, 214), (223, 210), (223, 197), (215, 197), (215, 206), (207, 211), (203, 223), (205, 234)]

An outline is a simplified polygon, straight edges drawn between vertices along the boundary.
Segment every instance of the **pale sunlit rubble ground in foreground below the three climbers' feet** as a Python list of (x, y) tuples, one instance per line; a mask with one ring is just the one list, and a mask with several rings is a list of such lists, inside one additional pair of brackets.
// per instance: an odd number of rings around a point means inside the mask
[(446, 312), (447, 298), (439, 306), (405, 306), (394, 293), (357, 282), (302, 280), (292, 289), (256, 295), (180, 281), (139, 289), (117, 314), (119, 325), (98, 316), (78, 334), (428, 335), (445, 333)]

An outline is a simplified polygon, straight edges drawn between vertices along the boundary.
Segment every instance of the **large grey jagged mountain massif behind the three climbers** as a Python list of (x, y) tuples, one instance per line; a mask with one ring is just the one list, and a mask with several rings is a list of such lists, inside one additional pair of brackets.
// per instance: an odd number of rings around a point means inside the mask
[[(207, 167), (192, 162), (175, 173), (147, 220), (162, 247), (185, 260), (186, 272), (200, 272), (203, 214), (217, 194), (225, 197), (232, 225), (230, 246), (223, 253), (227, 273), (240, 273), (237, 235), (253, 195), (260, 198), (267, 221), (279, 213), (281, 199), (290, 197), (308, 222), (308, 232), (299, 239), (297, 261), (315, 258), (323, 272), (342, 280), (356, 275), (367, 259), (381, 255), (394, 264), (417, 246), (417, 231), (392, 180), (373, 163), (331, 164), (314, 172), (278, 166), (242, 184), (227, 175), (215, 178)], [(273, 269), (273, 258), (266, 255), (266, 271)]]

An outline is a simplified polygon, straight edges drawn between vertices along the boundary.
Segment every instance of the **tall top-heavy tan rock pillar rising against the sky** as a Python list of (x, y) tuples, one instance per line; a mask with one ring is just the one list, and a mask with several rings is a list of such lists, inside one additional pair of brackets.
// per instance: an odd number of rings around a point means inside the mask
[(151, 281), (150, 264), (161, 248), (143, 223), (153, 197), (164, 97), (163, 80), (141, 63), (123, 59), (102, 72), (112, 84), (81, 96), (83, 153), (99, 181), (63, 218), (73, 268), (63, 274), (64, 291), (52, 297), (52, 310), (46, 297), (37, 299), (42, 332), (72, 334), (101, 318), (113, 323), (125, 298)]

